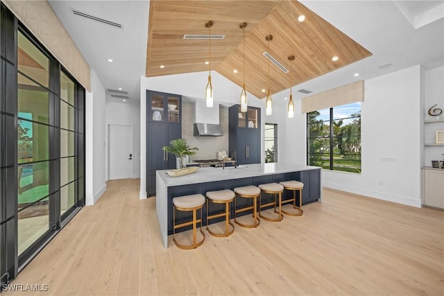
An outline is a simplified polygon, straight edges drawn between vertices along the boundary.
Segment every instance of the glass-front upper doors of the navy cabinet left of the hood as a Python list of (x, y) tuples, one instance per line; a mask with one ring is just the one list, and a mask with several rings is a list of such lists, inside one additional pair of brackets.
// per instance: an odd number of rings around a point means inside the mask
[(148, 92), (150, 121), (180, 123), (180, 96)]

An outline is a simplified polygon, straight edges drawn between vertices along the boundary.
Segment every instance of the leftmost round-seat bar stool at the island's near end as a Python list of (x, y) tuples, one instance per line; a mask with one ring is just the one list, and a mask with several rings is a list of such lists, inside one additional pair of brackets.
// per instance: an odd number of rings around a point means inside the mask
[[(178, 198), (173, 198), (173, 241), (180, 248), (184, 250), (195, 249), (196, 247), (203, 244), (205, 241), (205, 234), (202, 231), (202, 208), (203, 204), (205, 204), (205, 198), (202, 194), (193, 194), (193, 195), (185, 195), (180, 196)], [(200, 209), (200, 218), (197, 219), (197, 210)], [(193, 220), (180, 223), (176, 225), (176, 210), (177, 211), (193, 211)], [(196, 239), (196, 225), (200, 223), (200, 233), (203, 238), (201, 241), (197, 242)], [(192, 245), (182, 245), (176, 241), (176, 229), (180, 227), (185, 227), (188, 225), (193, 225), (193, 244)]]

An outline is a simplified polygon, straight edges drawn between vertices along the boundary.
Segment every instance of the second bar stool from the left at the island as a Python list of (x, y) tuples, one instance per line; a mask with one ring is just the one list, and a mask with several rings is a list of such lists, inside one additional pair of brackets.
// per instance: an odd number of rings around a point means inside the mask
[[(212, 236), (223, 237), (230, 236), (234, 232), (234, 225), (230, 223), (230, 202), (234, 200), (234, 192), (230, 189), (224, 189), (219, 191), (208, 191), (207, 192), (207, 232), (209, 232)], [(214, 202), (215, 204), (225, 204), (225, 211), (223, 213), (214, 214), (208, 216), (208, 206), (210, 202)], [(214, 218), (219, 218), (225, 216), (225, 233), (218, 234), (216, 232), (212, 232), (210, 228), (208, 228), (209, 220)], [(231, 226), (231, 230), (230, 230)]]

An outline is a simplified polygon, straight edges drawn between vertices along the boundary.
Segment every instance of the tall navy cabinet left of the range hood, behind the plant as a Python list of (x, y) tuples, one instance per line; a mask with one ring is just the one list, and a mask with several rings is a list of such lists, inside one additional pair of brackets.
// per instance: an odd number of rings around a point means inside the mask
[(155, 171), (176, 168), (176, 156), (162, 148), (182, 137), (182, 96), (146, 91), (146, 186), (155, 195)]

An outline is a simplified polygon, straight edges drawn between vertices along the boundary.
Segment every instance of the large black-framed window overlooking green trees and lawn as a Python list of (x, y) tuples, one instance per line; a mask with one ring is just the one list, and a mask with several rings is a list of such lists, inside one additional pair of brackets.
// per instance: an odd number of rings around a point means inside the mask
[(361, 102), (307, 113), (307, 163), (361, 173)]

